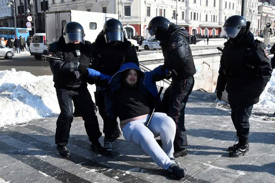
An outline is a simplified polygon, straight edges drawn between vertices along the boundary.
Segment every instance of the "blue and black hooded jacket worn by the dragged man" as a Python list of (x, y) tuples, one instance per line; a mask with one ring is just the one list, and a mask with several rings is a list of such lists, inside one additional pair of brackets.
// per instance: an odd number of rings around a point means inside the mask
[(162, 70), (162, 66), (156, 67), (154, 70), (149, 72), (143, 72), (141, 69), (135, 64), (135, 63), (124, 63), (118, 72), (114, 74), (112, 77), (106, 74), (102, 74), (101, 72), (98, 72), (94, 69), (88, 69), (89, 71), (89, 77), (99, 77), (101, 80), (107, 80), (108, 81), (108, 87), (105, 88), (105, 106), (106, 106), (106, 115), (113, 119), (116, 117), (114, 114), (113, 107), (114, 107), (114, 91), (119, 89), (122, 84), (122, 77), (123, 77), (123, 71), (128, 69), (135, 69), (140, 73), (140, 76), (138, 78), (138, 88), (148, 94), (151, 95), (155, 100), (160, 101), (160, 98), (157, 99), (158, 96), (158, 89), (156, 87), (156, 81), (163, 80), (166, 78), (168, 70)]

